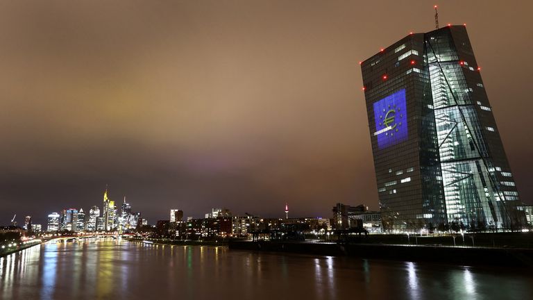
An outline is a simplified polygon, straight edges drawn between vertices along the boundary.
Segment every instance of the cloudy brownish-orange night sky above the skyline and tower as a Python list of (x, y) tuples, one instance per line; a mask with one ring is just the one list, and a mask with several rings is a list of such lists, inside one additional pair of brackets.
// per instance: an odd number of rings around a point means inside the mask
[(466, 24), (531, 203), (531, 1), (0, 1), (0, 224), (378, 209), (359, 61)]

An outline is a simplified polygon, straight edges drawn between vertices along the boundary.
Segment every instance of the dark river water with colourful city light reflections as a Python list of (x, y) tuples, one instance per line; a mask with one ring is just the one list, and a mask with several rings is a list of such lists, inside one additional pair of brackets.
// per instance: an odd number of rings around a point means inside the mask
[(0, 299), (533, 299), (533, 274), (93, 240), (0, 258)]

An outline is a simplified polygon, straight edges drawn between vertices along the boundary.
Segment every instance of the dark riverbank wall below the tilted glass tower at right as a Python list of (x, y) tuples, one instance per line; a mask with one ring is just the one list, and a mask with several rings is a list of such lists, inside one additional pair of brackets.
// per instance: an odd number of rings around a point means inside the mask
[(246, 251), (353, 256), (357, 258), (423, 261), (453, 265), (533, 267), (533, 249), (276, 241), (231, 241), (228, 246), (232, 250)]

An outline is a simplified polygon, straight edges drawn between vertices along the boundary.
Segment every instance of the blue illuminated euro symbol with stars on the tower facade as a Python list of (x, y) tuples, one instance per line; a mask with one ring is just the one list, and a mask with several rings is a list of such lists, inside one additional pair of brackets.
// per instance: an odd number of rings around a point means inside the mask
[(375, 133), (380, 149), (407, 139), (405, 89), (374, 103)]

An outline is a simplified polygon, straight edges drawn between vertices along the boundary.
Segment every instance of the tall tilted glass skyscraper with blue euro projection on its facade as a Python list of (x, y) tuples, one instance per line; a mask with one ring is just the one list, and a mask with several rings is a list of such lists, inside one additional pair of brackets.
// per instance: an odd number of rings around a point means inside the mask
[(525, 225), (465, 26), (407, 35), (361, 67), (386, 231)]

